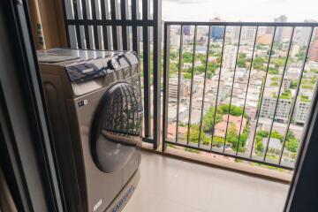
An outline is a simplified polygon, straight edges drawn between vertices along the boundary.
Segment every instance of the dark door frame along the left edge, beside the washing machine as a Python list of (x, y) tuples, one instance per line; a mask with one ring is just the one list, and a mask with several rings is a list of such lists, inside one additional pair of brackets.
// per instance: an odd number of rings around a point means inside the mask
[(63, 211), (27, 1), (0, 1), (0, 165), (18, 211)]

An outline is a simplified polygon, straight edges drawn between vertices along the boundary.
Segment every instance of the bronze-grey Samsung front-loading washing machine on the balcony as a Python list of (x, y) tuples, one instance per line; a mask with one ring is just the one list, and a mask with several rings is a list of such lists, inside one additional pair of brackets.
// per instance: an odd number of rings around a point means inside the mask
[(142, 104), (133, 51), (37, 52), (67, 211), (121, 211), (139, 178)]

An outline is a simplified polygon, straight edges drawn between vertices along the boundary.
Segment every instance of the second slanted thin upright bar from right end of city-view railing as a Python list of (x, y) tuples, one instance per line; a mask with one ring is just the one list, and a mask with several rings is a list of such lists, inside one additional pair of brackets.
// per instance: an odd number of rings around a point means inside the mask
[(294, 31), (295, 31), (295, 27), (292, 27), (291, 42), (289, 43), (289, 47), (288, 47), (288, 51), (287, 51), (287, 55), (286, 55), (286, 59), (285, 59), (285, 63), (284, 63), (284, 71), (283, 71), (282, 79), (280, 81), (280, 86), (279, 86), (278, 93), (277, 93), (275, 110), (274, 110), (274, 114), (273, 114), (273, 120), (272, 120), (272, 123), (270, 125), (270, 130), (269, 130), (269, 140), (268, 140), (267, 145), (266, 145), (266, 150), (265, 150), (264, 160), (263, 161), (266, 160), (266, 155), (267, 155), (267, 152), (269, 150), (269, 142), (270, 142), (270, 137), (271, 137), (271, 133), (272, 133), (274, 122), (275, 122), (276, 110), (277, 110), (277, 105), (278, 105), (278, 102), (279, 102), (279, 95), (280, 95), (280, 93), (282, 91), (284, 74), (286, 72), (288, 59), (289, 59), (290, 52), (291, 52), (291, 49), (292, 49), (292, 39), (293, 39)]

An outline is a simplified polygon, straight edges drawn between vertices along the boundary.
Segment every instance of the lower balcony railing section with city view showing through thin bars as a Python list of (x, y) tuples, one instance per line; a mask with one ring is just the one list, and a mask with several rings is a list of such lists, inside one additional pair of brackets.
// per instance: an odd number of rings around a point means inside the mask
[(292, 170), (317, 49), (317, 23), (165, 22), (163, 151)]

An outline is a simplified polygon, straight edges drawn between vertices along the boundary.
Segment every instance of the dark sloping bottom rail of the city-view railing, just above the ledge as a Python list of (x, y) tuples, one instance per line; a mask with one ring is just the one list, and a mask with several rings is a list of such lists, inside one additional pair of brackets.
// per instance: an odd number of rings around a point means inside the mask
[(268, 163), (268, 162), (258, 161), (258, 160), (255, 160), (253, 158), (248, 158), (248, 157), (244, 157), (244, 156), (231, 155), (231, 154), (226, 154), (226, 153), (223, 153), (223, 152), (218, 152), (218, 151), (214, 151), (214, 150), (210, 150), (210, 149), (192, 147), (192, 146), (189, 146), (189, 145), (186, 145), (186, 144), (182, 144), (180, 142), (177, 143), (177, 142), (173, 142), (173, 141), (169, 141), (169, 140), (165, 140), (164, 142), (166, 144), (176, 145), (176, 146), (183, 147), (183, 148), (192, 148), (192, 149), (195, 149), (195, 150), (208, 152), (208, 153), (213, 153), (213, 154), (216, 154), (216, 155), (229, 156), (229, 157), (232, 157), (232, 158), (235, 158), (235, 159), (239, 159), (239, 160), (244, 160), (244, 161), (247, 161), (247, 162), (261, 163), (261, 164), (264, 164), (264, 165), (269, 165), (269, 166), (273, 166), (273, 167), (276, 167), (276, 168), (281, 168), (281, 169), (284, 169), (284, 170), (293, 170), (292, 167), (280, 165), (278, 163)]

